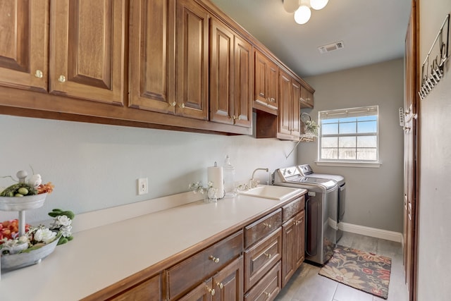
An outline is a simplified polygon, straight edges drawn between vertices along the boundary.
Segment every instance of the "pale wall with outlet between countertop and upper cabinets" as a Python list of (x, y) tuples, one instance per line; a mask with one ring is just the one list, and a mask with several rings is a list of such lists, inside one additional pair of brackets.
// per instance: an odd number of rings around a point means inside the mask
[[(254, 116), (255, 117), (255, 116)], [(249, 180), (255, 168), (292, 166), (295, 142), (257, 140), (114, 125), (52, 121), (0, 115), (0, 176), (31, 173), (55, 185), (44, 207), (27, 211), (27, 222), (48, 219), (54, 208), (75, 214), (188, 191), (206, 184), (206, 167), (223, 165), (229, 154), (235, 180)], [(137, 178), (149, 178), (149, 194), (137, 195)], [(262, 183), (269, 173), (258, 171)], [(0, 187), (13, 184), (0, 178)], [(0, 221), (17, 213), (0, 211)]]

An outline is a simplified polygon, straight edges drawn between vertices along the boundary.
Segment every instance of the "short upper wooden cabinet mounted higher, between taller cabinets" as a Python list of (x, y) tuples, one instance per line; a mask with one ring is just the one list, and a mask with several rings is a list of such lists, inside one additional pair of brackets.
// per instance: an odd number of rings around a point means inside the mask
[(261, 51), (255, 50), (254, 108), (277, 115), (278, 66)]

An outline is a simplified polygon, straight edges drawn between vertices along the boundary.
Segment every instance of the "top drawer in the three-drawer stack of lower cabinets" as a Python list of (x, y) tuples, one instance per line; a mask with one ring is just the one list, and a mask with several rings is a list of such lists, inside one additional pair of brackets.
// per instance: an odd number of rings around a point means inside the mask
[(245, 247), (253, 245), (282, 225), (282, 209), (251, 223), (245, 228)]

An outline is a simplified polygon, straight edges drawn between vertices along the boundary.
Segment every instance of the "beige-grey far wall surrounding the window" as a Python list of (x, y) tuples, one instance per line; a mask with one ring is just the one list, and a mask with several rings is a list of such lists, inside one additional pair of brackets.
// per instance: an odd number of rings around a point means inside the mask
[(380, 168), (316, 166), (318, 143), (298, 147), (299, 163), (345, 176), (346, 223), (402, 233), (404, 143), (398, 109), (403, 106), (403, 70), (403, 60), (397, 59), (306, 79), (316, 90), (315, 107), (306, 110), (314, 121), (318, 111), (379, 106)]

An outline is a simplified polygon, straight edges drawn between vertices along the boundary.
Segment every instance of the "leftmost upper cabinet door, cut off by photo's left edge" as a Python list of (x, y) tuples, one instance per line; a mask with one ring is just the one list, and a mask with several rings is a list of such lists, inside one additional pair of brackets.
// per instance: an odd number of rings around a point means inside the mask
[(49, 0), (0, 1), (0, 85), (47, 92)]

